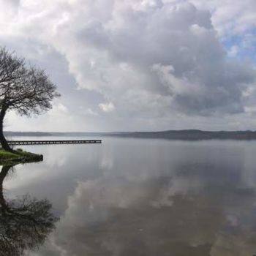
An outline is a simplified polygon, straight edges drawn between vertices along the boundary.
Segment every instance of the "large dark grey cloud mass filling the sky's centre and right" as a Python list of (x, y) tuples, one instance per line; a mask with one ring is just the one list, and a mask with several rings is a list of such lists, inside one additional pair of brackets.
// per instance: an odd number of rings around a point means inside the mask
[(244, 112), (255, 70), (227, 60), (210, 12), (187, 2), (112, 1), (103, 15), (99, 6), (69, 15), (67, 24), (88, 18), (75, 33), (70, 25), (61, 31), (76, 45), (61, 43), (80, 88), (99, 91), (124, 114)]

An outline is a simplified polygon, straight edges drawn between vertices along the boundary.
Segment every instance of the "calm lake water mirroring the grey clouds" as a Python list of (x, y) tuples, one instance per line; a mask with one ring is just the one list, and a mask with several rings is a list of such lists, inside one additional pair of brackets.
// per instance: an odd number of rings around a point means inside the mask
[(24, 149), (44, 161), (16, 165), (5, 200), (46, 198), (59, 218), (30, 256), (256, 255), (256, 141), (103, 138)]

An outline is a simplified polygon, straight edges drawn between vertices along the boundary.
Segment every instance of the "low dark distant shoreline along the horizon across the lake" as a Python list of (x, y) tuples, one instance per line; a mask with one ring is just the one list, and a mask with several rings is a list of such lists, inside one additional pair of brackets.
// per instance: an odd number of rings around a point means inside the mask
[(62, 136), (89, 137), (112, 136), (118, 138), (156, 138), (167, 140), (256, 140), (256, 131), (201, 131), (198, 129), (167, 130), (162, 132), (4, 132), (11, 136)]

